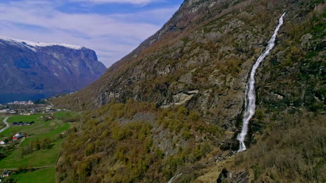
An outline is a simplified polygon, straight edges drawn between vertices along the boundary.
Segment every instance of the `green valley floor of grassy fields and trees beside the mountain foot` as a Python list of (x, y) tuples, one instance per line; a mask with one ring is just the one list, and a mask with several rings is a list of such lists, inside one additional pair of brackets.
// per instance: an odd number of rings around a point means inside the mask
[[(61, 145), (70, 123), (64, 119), (75, 116), (74, 112), (10, 116), (10, 128), (0, 133), (2, 139), (10, 139), (16, 133), (25, 137), (0, 146), (0, 170), (11, 172), (7, 180), (14, 182), (55, 182), (55, 166), (60, 156)], [(51, 120), (45, 117), (51, 116)], [(3, 117), (0, 117), (3, 119)], [(13, 125), (34, 121), (33, 125)]]

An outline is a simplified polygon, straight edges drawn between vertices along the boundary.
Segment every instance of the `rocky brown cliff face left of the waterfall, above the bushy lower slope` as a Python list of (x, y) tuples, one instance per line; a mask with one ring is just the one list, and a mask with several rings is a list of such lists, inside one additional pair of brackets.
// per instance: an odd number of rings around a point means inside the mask
[(129, 98), (161, 107), (181, 104), (235, 130), (249, 69), (282, 12), (274, 8), (284, 8), (286, 2), (269, 3), (272, 16), (264, 15), (264, 5), (253, 4), (185, 1), (161, 30), (69, 105), (100, 106)]

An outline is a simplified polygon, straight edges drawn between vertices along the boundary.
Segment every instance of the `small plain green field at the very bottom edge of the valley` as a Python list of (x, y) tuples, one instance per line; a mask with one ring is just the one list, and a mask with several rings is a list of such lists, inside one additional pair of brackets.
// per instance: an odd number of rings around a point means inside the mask
[(45, 168), (38, 171), (20, 173), (17, 175), (19, 183), (55, 183), (56, 168)]

